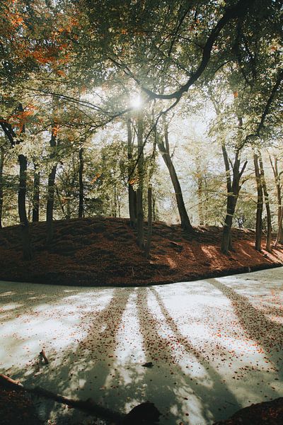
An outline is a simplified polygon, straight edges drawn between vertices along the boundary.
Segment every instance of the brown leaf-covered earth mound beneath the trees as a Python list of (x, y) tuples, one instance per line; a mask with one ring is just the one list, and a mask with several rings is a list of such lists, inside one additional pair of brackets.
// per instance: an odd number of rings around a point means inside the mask
[[(145, 225), (146, 230), (146, 225)], [(23, 261), (19, 226), (0, 232), (0, 279), (82, 286), (143, 286), (225, 276), (282, 265), (282, 246), (255, 251), (255, 232), (233, 229), (233, 251), (221, 254), (220, 227), (154, 222), (150, 258), (137, 246), (129, 220), (94, 217), (54, 222), (54, 239), (45, 243), (46, 223), (30, 225), (33, 260)]]

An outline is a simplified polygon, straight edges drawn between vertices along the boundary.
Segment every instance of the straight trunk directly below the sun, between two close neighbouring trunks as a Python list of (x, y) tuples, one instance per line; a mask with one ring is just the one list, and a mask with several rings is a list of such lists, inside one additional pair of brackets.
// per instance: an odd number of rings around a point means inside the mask
[(139, 187), (137, 190), (137, 242), (139, 248), (144, 248), (144, 205), (143, 205), (143, 190), (144, 190), (144, 123), (142, 111), (139, 111), (137, 117), (137, 154), (138, 154), (138, 179)]

